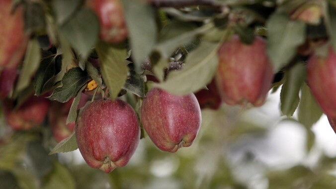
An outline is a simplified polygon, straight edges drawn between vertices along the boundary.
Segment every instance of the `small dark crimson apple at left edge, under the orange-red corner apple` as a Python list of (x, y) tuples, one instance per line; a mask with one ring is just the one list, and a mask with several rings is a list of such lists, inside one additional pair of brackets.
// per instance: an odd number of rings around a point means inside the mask
[(0, 72), (0, 99), (9, 95), (16, 78), (16, 67), (6, 68)]

